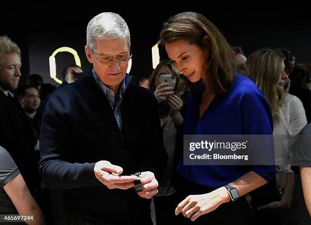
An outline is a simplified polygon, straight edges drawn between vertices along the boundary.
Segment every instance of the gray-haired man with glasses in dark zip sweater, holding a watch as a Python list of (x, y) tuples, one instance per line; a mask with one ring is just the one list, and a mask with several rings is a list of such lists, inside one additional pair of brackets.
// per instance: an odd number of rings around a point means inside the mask
[(45, 108), (39, 169), (49, 187), (64, 189), (71, 224), (152, 224), (150, 198), (167, 154), (157, 100), (127, 74), (130, 47), (122, 17), (92, 18), (85, 54), (94, 69), (56, 90)]

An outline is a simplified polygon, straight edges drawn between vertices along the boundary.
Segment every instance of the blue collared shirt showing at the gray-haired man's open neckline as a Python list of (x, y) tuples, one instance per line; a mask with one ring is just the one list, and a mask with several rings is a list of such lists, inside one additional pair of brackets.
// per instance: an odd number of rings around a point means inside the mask
[(120, 88), (119, 88), (119, 93), (118, 93), (118, 97), (117, 97), (117, 101), (115, 102), (114, 100), (114, 92), (113, 90), (110, 90), (95, 74), (94, 69), (92, 69), (92, 75), (95, 78), (96, 82), (98, 83), (98, 85), (100, 86), (100, 88), (102, 89), (103, 93), (106, 95), (110, 106), (112, 108), (112, 111), (114, 113), (114, 117), (118, 123), (119, 129), (121, 130), (121, 126), (122, 126), (122, 117), (121, 117), (121, 102), (122, 102), (122, 95), (126, 90), (126, 86), (130, 83), (131, 81), (131, 76), (127, 75), (122, 82), (120, 83)]

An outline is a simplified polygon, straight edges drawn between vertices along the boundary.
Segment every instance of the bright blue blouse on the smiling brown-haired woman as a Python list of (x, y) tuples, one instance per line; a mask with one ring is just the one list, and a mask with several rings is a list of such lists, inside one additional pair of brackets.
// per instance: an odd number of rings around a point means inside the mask
[[(236, 76), (228, 93), (223, 97), (217, 95), (201, 119), (201, 94), (200, 98), (190, 97), (184, 118), (185, 135), (272, 135), (272, 115), (263, 93), (252, 80)], [(185, 166), (182, 157), (176, 171), (185, 180), (214, 189), (250, 171), (267, 181), (277, 173), (275, 166)]]

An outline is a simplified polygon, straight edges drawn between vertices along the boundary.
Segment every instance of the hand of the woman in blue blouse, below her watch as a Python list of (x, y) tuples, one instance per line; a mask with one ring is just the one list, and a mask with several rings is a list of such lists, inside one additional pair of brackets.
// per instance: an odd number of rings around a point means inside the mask
[(220, 187), (203, 195), (191, 195), (178, 204), (175, 215), (183, 216), (195, 221), (199, 216), (217, 209), (220, 205), (229, 202), (230, 196), (226, 187)]

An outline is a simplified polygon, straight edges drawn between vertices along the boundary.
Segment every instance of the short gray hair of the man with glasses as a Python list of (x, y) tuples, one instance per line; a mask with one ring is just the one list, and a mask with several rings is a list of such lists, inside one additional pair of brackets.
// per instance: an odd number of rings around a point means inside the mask
[(130, 30), (126, 21), (116, 13), (101, 13), (92, 18), (86, 28), (86, 45), (95, 48), (95, 40), (126, 38), (131, 48)]

